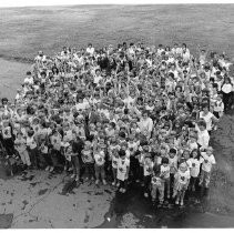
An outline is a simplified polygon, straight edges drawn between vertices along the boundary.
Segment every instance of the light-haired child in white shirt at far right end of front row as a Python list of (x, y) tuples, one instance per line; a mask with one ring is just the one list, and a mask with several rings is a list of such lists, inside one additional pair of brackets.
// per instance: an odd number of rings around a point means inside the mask
[(205, 188), (208, 188), (212, 168), (216, 163), (213, 155), (213, 148), (208, 146), (206, 149), (206, 152), (201, 152), (201, 156), (202, 170), (200, 176), (200, 185), (204, 184)]

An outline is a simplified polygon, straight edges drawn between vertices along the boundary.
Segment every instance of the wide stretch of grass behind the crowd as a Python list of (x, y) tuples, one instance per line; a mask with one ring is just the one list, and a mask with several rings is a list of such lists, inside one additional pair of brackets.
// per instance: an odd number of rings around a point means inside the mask
[[(234, 55), (233, 4), (74, 6), (1, 9), (0, 54), (32, 59), (64, 44), (186, 42)], [(222, 17), (221, 17), (222, 16)]]

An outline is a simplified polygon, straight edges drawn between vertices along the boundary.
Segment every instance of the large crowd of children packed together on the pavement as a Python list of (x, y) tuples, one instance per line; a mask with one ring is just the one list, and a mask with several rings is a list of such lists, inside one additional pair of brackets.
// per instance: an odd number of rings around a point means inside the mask
[(233, 104), (225, 53), (197, 50), (124, 42), (39, 51), (14, 101), (2, 98), (4, 156), (121, 193), (135, 182), (153, 203), (183, 205), (187, 190), (210, 185), (210, 136)]

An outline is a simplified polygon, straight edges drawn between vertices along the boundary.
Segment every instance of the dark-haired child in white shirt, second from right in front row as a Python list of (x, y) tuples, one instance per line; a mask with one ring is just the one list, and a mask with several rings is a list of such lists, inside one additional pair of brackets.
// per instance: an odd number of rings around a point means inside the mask
[(191, 152), (191, 158), (187, 161), (189, 168), (190, 168), (190, 174), (191, 174), (191, 181), (190, 181), (190, 188), (194, 192), (195, 185), (199, 181), (199, 174), (200, 174), (200, 151), (194, 149)]

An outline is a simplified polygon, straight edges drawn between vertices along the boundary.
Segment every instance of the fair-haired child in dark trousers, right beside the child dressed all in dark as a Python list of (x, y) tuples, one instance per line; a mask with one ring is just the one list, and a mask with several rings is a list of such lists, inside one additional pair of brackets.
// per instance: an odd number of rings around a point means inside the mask
[(93, 151), (92, 151), (92, 143), (90, 141), (84, 142), (84, 149), (81, 151), (81, 158), (84, 163), (84, 169), (88, 173), (87, 180), (94, 179), (94, 159), (93, 159)]

